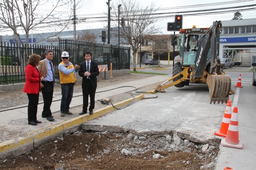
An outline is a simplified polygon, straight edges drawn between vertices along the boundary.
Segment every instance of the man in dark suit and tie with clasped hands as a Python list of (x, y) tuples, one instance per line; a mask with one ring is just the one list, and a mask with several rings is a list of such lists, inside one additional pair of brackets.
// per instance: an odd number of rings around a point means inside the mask
[(93, 114), (95, 105), (95, 92), (97, 88), (97, 77), (99, 75), (98, 64), (91, 60), (92, 53), (90, 51), (84, 52), (85, 61), (80, 64), (79, 76), (82, 79), (82, 91), (83, 91), (83, 110), (81, 114), (87, 113), (88, 97), (90, 95), (90, 107), (89, 114)]

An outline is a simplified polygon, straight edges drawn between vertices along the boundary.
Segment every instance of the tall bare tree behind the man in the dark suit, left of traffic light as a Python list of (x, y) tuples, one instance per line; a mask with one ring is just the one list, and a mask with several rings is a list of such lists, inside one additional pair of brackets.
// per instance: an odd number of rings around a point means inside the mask
[[(120, 42), (130, 45), (133, 50), (133, 71), (136, 71), (136, 53), (139, 49), (144, 37), (158, 33), (158, 29), (154, 27), (155, 20), (150, 19), (154, 12), (154, 4), (142, 7), (139, 1), (120, 0), (118, 3), (111, 5), (112, 18), (118, 21), (118, 4), (122, 4), (120, 8), (120, 18), (123, 18), (123, 24), (120, 28)], [(118, 29), (117, 24), (114, 24)], [(117, 30), (114, 30), (118, 32)]]

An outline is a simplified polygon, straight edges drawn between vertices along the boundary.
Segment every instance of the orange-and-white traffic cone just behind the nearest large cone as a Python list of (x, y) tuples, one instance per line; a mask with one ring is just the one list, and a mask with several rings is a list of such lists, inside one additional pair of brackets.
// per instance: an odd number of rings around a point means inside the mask
[(214, 135), (223, 136), (226, 138), (230, 118), (231, 118), (231, 101), (228, 101), (220, 129), (219, 131), (215, 132)]

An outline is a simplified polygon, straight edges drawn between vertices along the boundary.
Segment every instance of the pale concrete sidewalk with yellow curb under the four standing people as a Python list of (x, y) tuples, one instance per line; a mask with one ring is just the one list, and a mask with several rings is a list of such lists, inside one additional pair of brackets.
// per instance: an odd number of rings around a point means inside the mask
[[(149, 76), (148, 78), (115, 84), (113, 86), (108, 86), (104, 88), (97, 89), (96, 92), (106, 91), (109, 89), (114, 89), (118, 87), (117, 90), (111, 90), (101, 93), (96, 93), (95, 101), (98, 99), (106, 98), (109, 96), (122, 94), (125, 92), (133, 91), (134, 88), (127, 87), (133, 86), (138, 88), (148, 86), (153, 83), (166, 81), (170, 76)], [(153, 87), (152, 87), (153, 90)], [(132, 98), (132, 96), (131, 96)], [(143, 98), (142, 95), (138, 95), (135, 97), (135, 100)], [(55, 97), (54, 101), (61, 99), (61, 96)], [(40, 101), (39, 101), (40, 103)], [(129, 104), (127, 101), (120, 102), (119, 107), (125, 106)], [(82, 93), (74, 93), (72, 102), (70, 104), (70, 108), (80, 106), (83, 104), (83, 96)], [(58, 112), (60, 108), (60, 101), (53, 102), (51, 105), (52, 112)], [(38, 110), (43, 109), (43, 104), (38, 105)], [(114, 110), (112, 106), (106, 105), (105, 108), (94, 110), (93, 115), (84, 114), (79, 115), (74, 113), (73, 115), (68, 115), (67, 117), (60, 117), (59, 115), (54, 115), (54, 122), (49, 122), (45, 118), (41, 118), (38, 116), (38, 120), (42, 121), (42, 123), (37, 126), (31, 126), (27, 123), (27, 105), (17, 106), (11, 108), (11, 110), (2, 111), (1, 112), (1, 120), (0, 124), (2, 125), (2, 129), (6, 129), (6, 133), (9, 135), (16, 134), (19, 132), (19, 136), (13, 136), (12, 140), (6, 141), (4, 140), (4, 135), (0, 136), (1, 141), (5, 141), (0, 143), (0, 159), (4, 158), (7, 155), (18, 155), (21, 153), (25, 153), (33, 148), (37, 148), (43, 143), (49, 142), (54, 139), (56, 136), (59, 136), (64, 133), (72, 133), (76, 132), (82, 123), (100, 117), (110, 111)], [(40, 114), (40, 113), (39, 113)]]

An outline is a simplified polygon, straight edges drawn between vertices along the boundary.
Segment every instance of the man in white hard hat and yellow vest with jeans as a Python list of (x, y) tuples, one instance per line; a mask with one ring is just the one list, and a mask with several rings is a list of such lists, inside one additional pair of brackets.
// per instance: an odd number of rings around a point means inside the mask
[(67, 51), (63, 51), (62, 62), (59, 63), (59, 77), (60, 77), (60, 86), (62, 99), (60, 102), (60, 116), (65, 117), (65, 114), (71, 115), (72, 112), (69, 111), (69, 105), (73, 97), (74, 85), (76, 85), (76, 69), (79, 68), (79, 65), (73, 65), (69, 62), (69, 54)]

